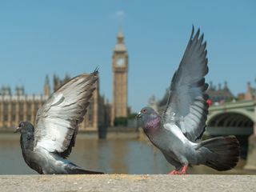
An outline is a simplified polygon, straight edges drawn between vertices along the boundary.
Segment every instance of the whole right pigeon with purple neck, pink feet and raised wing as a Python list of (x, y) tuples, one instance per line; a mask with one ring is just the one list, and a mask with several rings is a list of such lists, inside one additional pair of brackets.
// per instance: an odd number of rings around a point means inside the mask
[(194, 26), (182, 61), (170, 83), (169, 97), (162, 115), (149, 106), (137, 114), (146, 136), (175, 167), (169, 174), (186, 174), (188, 166), (205, 165), (214, 170), (230, 170), (239, 160), (239, 142), (234, 136), (200, 142), (206, 130), (209, 96), (206, 42)]

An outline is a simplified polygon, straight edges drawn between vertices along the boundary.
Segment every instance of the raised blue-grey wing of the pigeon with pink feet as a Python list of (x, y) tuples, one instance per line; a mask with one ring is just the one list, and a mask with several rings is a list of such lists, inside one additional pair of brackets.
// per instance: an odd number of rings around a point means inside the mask
[(190, 41), (178, 70), (170, 84), (170, 95), (166, 110), (162, 114), (162, 123), (174, 123), (182, 130), (186, 138), (194, 142), (202, 136), (208, 114), (208, 84), (204, 76), (208, 73), (206, 42), (200, 30), (194, 35), (194, 26)]

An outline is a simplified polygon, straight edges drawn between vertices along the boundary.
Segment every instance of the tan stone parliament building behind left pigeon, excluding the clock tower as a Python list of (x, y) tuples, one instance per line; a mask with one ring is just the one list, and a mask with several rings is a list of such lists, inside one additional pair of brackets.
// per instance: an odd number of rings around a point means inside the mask
[[(65, 81), (60, 80), (54, 75), (54, 91), (69, 80), (66, 77), (64, 79)], [(46, 76), (43, 90), (44, 94), (41, 95), (27, 95), (23, 86), (17, 86), (16, 92), (12, 94), (9, 86), (3, 86), (0, 91), (0, 129), (8, 130), (18, 126), (18, 123), (22, 121), (29, 121), (34, 124), (38, 109), (50, 97), (48, 76)], [(87, 108), (84, 121), (79, 125), (79, 130), (97, 131), (99, 126), (108, 126), (110, 117), (106, 115), (108, 106), (105, 106), (105, 99), (100, 96), (97, 86), (90, 100), (90, 106)]]

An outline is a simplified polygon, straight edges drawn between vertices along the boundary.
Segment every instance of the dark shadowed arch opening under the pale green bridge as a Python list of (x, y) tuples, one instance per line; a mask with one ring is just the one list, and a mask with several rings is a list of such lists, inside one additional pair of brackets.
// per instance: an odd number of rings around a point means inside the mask
[(232, 110), (210, 114), (206, 133), (210, 136), (235, 135), (241, 146), (241, 157), (246, 159), (248, 138), (254, 134), (254, 118), (246, 110)]

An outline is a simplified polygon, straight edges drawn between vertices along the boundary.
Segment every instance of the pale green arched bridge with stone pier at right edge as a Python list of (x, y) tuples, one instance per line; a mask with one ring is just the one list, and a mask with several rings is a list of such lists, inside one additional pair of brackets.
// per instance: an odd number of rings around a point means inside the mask
[(226, 102), (210, 106), (206, 135), (235, 135), (241, 143), (246, 169), (256, 169), (256, 101)]

